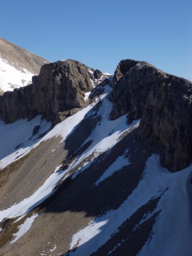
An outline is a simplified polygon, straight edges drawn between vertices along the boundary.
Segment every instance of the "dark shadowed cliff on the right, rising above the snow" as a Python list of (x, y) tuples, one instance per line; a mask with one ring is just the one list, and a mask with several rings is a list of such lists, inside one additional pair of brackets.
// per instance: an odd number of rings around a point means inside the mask
[(112, 80), (111, 119), (141, 119), (139, 137), (164, 148), (164, 164), (181, 170), (192, 159), (192, 82), (144, 61), (122, 60)]

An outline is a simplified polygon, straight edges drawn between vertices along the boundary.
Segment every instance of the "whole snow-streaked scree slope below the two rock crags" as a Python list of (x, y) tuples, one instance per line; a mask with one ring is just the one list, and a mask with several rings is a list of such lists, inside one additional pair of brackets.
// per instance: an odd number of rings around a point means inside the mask
[(111, 87), (55, 127), (1, 121), (3, 255), (187, 256), (192, 166), (171, 173), (140, 143), (140, 120), (111, 121)]

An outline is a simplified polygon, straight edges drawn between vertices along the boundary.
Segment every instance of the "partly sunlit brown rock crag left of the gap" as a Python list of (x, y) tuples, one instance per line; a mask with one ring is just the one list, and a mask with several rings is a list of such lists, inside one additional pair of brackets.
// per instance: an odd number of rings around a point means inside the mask
[(43, 65), (31, 85), (1, 96), (2, 119), (9, 123), (41, 114), (54, 123), (62, 121), (89, 103), (85, 93), (90, 92), (96, 82), (93, 72), (75, 60)]

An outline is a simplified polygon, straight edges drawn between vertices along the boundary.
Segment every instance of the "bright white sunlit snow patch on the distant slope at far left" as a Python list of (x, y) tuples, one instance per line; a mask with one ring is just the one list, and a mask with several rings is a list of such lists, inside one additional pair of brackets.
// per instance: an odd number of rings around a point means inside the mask
[[(15, 65), (18, 65), (15, 63)], [(5, 59), (0, 56), (0, 85), (3, 92), (7, 90), (14, 90), (14, 88), (19, 88), (31, 84), (32, 76), (37, 74), (27, 71), (27, 69), (18, 68), (16, 69), (10, 65)]]

